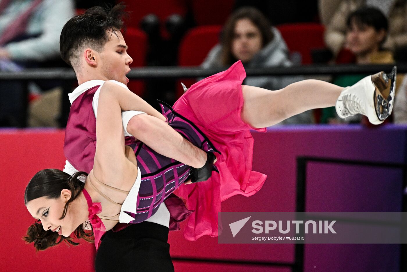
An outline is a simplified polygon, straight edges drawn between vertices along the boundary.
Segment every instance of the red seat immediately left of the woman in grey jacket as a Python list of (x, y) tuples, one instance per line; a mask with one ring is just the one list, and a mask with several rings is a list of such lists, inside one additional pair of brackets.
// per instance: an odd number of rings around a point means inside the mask
[[(186, 33), (179, 46), (178, 65), (198, 66), (200, 65), (210, 49), (219, 42), (219, 33), (222, 26), (202, 26), (191, 29)], [(196, 82), (194, 79), (182, 79), (177, 83), (176, 94), (180, 97), (184, 92), (180, 82), (189, 88)]]

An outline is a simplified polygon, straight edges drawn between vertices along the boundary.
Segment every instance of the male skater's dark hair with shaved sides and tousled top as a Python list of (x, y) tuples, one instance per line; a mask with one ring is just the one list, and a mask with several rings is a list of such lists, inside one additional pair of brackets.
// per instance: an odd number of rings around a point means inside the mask
[(101, 52), (111, 35), (123, 28), (124, 9), (125, 5), (121, 3), (111, 9), (92, 7), (84, 14), (72, 17), (63, 26), (59, 38), (62, 59), (76, 68), (85, 47)]

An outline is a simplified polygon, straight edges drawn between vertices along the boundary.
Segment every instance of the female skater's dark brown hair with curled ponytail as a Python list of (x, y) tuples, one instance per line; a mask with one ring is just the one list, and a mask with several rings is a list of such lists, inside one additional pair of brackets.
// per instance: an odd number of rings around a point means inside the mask
[[(27, 203), (33, 199), (39, 197), (47, 197), (49, 199), (57, 199), (61, 195), (63, 189), (68, 189), (72, 192), (71, 198), (65, 204), (63, 212), (60, 219), (66, 216), (66, 212), (72, 201), (74, 201), (79, 194), (82, 192), (85, 183), (80, 181), (78, 178), (81, 176), (88, 176), (86, 172), (77, 172), (70, 176), (65, 172), (58, 169), (44, 169), (37, 174), (28, 182), (24, 193), (24, 203)], [(92, 239), (93, 231), (86, 231), (86, 224), (82, 224), (74, 231), (74, 238), (84, 239), (88, 242), (93, 242)], [(64, 237), (59, 235), (57, 232), (51, 230), (44, 230), (42, 224), (39, 220), (35, 221), (27, 231), (27, 236), (23, 237), (24, 241), (28, 243), (34, 242), (35, 249), (46, 250), (47, 248), (57, 245), (62, 241), (67, 244), (79, 245), (79, 243), (72, 241), (71, 237)], [(59, 240), (58, 240), (59, 239)]]

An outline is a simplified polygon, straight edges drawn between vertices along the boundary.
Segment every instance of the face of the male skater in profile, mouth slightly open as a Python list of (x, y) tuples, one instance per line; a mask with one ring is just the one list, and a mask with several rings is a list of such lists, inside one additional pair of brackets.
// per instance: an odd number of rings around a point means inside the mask
[[(116, 33), (116, 34), (115, 34)], [(120, 31), (110, 32), (110, 39), (100, 53), (98, 69), (107, 80), (116, 80), (123, 84), (129, 83), (126, 77), (133, 59), (127, 54), (127, 45)]]

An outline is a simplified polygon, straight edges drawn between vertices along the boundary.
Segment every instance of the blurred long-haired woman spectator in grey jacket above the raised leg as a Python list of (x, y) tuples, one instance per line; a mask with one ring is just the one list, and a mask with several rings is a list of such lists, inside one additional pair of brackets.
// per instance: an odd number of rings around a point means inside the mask
[[(243, 7), (228, 18), (221, 44), (215, 45), (201, 64), (203, 68), (219, 68), (241, 60), (245, 68), (287, 67), (292, 62), (280, 32), (257, 9)], [(302, 77), (246, 77), (243, 84), (278, 90), (302, 80)], [(282, 124), (309, 124), (312, 111), (290, 117)]]

